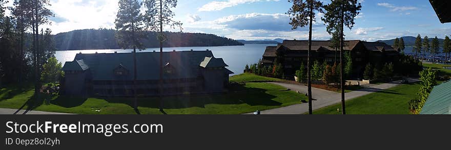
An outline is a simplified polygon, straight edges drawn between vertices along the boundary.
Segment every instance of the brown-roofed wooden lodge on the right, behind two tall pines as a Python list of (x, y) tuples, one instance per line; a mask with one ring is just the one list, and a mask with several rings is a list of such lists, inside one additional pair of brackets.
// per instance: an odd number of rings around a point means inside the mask
[[(340, 62), (340, 50), (335, 51), (331, 47), (331, 41), (312, 41), (312, 62), (318, 60), (333, 64), (336, 60)], [(301, 62), (307, 65), (307, 55), (309, 41), (306, 40), (284, 40), (277, 46), (268, 46), (262, 58), (262, 64), (273, 66), (277, 59), (284, 68), (287, 77), (293, 77), (296, 70), (299, 70)], [(392, 47), (383, 42), (365, 42), (361, 40), (345, 41), (343, 47), (345, 53), (350, 53), (353, 59), (353, 78), (361, 78), (365, 66), (368, 63), (380, 64), (386, 62), (399, 61), (400, 49)], [(344, 55), (344, 54), (343, 54)], [(337, 56), (337, 59), (335, 59)], [(306, 67), (305, 67), (306, 68)]]

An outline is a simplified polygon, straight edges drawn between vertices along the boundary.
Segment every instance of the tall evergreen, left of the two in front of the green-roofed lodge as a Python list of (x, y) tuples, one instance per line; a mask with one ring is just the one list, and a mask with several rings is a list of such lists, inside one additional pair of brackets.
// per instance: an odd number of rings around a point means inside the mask
[(136, 48), (145, 49), (140, 40), (144, 38), (142, 27), (142, 15), (140, 13), (140, 4), (137, 0), (120, 0), (119, 10), (117, 12), (116, 24), (116, 39), (118, 44), (124, 48), (133, 48), (133, 95), (134, 108), (138, 110), (137, 100), (137, 65), (136, 65)]

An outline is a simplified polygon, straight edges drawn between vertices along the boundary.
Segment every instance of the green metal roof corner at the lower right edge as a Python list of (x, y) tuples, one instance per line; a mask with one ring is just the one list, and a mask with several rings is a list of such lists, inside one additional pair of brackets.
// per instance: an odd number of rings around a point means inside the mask
[(451, 114), (451, 80), (434, 87), (420, 114)]

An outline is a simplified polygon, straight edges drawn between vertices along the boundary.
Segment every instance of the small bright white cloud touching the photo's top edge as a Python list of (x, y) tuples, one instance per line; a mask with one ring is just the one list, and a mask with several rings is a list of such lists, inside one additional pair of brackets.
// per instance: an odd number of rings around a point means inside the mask
[(203, 5), (198, 9), (198, 11), (218, 11), (222, 10), (224, 8), (237, 6), (240, 4), (246, 4), (246, 3), (255, 3), (260, 1), (280, 1), (280, 0), (227, 0), (227, 1), (213, 1), (206, 5)]

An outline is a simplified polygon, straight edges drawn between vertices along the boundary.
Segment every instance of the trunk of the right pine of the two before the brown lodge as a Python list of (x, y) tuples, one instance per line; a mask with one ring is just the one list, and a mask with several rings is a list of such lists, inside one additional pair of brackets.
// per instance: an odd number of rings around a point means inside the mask
[[(343, 6), (342, 6), (343, 7)], [(341, 109), (343, 115), (346, 114), (346, 105), (345, 105), (345, 99), (344, 99), (344, 79), (343, 79), (343, 46), (344, 46), (344, 40), (343, 40), (343, 26), (344, 26), (344, 14), (343, 14), (343, 8), (341, 8), (341, 39), (340, 39), (340, 88), (341, 88)]]

